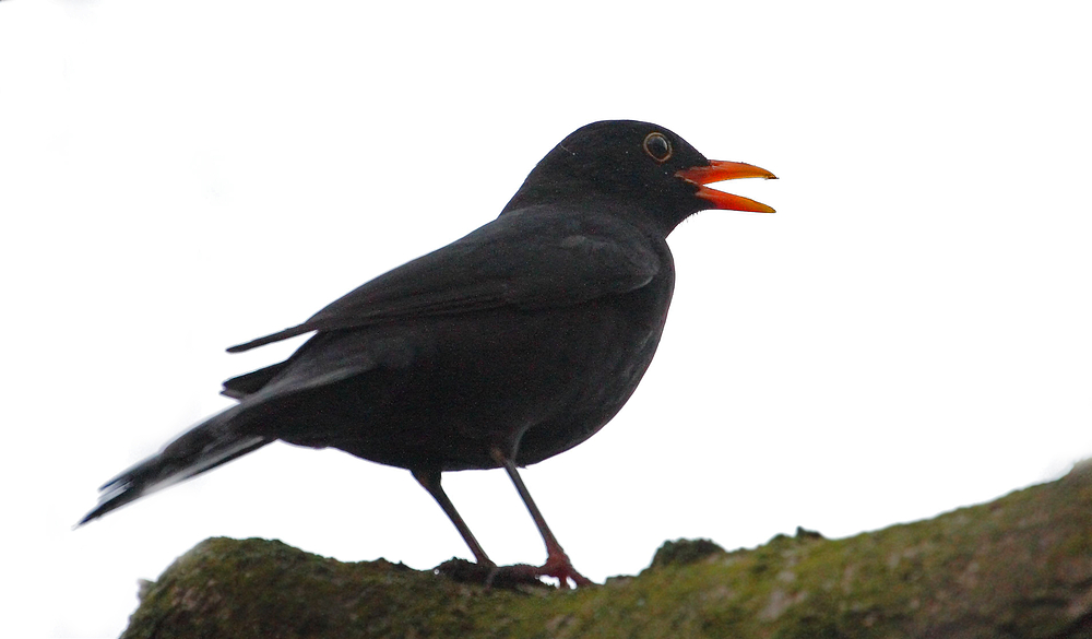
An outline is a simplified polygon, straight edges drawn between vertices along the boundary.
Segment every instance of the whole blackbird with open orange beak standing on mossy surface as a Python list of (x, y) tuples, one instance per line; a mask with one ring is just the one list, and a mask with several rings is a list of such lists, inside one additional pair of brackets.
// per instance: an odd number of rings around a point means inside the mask
[(306, 322), (228, 348), (314, 333), (288, 359), (224, 382), (238, 400), (100, 488), (78, 525), (275, 440), (407, 469), (477, 563), (496, 565), (440, 474), (505, 469), (546, 543), (533, 578), (590, 583), (518, 466), (584, 441), (656, 352), (675, 285), (667, 235), (707, 209), (773, 209), (703, 185), (773, 174), (707, 159), (672, 131), (594, 122), (554, 147), (500, 216), (356, 288)]

